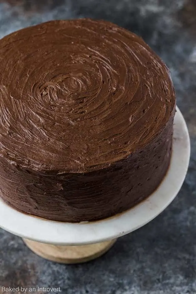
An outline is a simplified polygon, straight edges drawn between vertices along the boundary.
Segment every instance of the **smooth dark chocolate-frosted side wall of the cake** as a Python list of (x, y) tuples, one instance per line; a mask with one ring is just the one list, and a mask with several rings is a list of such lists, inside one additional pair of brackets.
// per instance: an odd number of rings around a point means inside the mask
[(0, 160), (0, 197), (21, 212), (50, 220), (100, 220), (130, 209), (159, 186), (168, 170), (173, 117), (145, 149), (85, 174), (38, 173)]

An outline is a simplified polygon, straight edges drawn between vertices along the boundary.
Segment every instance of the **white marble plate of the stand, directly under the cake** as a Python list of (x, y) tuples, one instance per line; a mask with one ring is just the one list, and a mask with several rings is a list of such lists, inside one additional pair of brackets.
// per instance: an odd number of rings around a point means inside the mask
[(123, 236), (147, 224), (171, 203), (183, 184), (189, 159), (189, 134), (177, 108), (170, 168), (159, 188), (145, 201), (115, 217), (71, 224), (20, 213), (0, 200), (0, 227), (26, 239), (55, 245), (98, 243)]

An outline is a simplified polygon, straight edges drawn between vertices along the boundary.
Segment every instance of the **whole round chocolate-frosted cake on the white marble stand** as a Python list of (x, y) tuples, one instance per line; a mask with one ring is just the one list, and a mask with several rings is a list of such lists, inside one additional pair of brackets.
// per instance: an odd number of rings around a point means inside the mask
[(50, 21), (0, 40), (0, 197), (81, 222), (148, 197), (167, 172), (175, 92), (167, 67), (110, 22)]

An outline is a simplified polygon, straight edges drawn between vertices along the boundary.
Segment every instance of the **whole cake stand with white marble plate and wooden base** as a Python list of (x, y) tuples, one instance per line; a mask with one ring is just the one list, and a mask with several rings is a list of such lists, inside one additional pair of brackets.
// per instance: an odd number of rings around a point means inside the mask
[(183, 184), (189, 158), (189, 134), (177, 108), (171, 164), (164, 180), (149, 198), (115, 217), (77, 224), (20, 213), (0, 200), (0, 227), (22, 237), (26, 245), (43, 258), (61, 263), (89, 261), (104, 254), (118, 237), (147, 224), (171, 203)]

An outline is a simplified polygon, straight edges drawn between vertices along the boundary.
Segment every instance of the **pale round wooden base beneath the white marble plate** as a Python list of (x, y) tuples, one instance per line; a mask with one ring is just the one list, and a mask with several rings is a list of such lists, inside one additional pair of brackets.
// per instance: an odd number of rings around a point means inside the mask
[(88, 262), (106, 253), (116, 239), (80, 246), (58, 246), (23, 239), (28, 248), (37, 255), (59, 263), (73, 264)]

